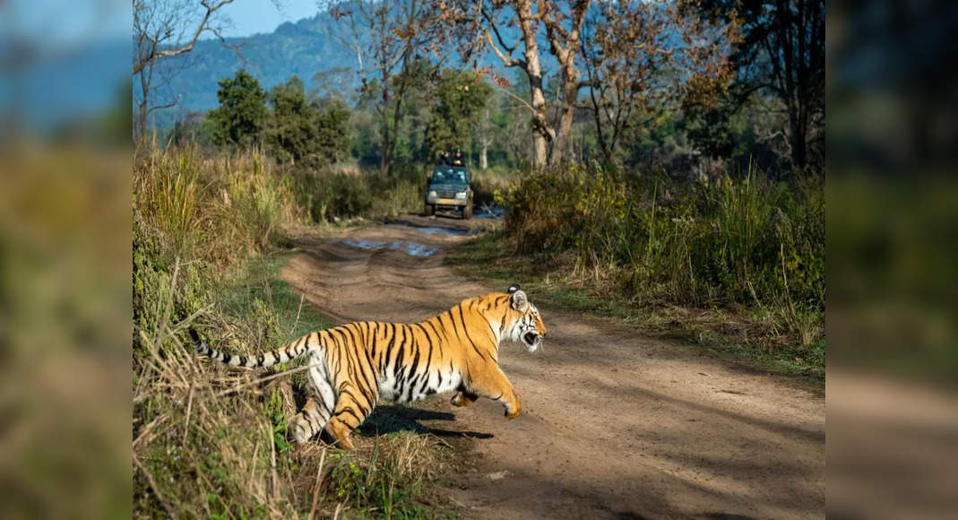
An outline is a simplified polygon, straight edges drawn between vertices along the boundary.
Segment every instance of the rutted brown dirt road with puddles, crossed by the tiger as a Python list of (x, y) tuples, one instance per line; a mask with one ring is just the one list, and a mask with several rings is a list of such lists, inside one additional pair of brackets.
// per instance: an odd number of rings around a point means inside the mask
[[(305, 237), (281, 276), (331, 317), (419, 321), (506, 287), (443, 265), (474, 226), (409, 216)], [(522, 283), (521, 280), (516, 282)], [(530, 294), (536, 302), (536, 295)], [(537, 305), (545, 349), (500, 362), (523, 415), (435, 396), (427, 428), (475, 439), (449, 493), (467, 518), (790, 518), (825, 512), (825, 398), (607, 321)]]

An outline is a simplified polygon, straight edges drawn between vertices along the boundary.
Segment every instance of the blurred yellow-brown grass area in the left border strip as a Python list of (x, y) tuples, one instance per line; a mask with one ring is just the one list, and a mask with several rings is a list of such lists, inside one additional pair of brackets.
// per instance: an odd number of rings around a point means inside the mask
[(0, 515), (128, 514), (129, 169), (0, 144)]

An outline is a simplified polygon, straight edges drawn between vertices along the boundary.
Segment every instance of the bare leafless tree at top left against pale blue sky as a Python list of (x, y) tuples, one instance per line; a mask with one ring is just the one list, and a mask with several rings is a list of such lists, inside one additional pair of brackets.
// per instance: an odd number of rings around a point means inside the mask
[(225, 19), (220, 10), (231, 3), (233, 0), (133, 0), (132, 70), (139, 83), (137, 118), (133, 127), (135, 139), (139, 140), (146, 131), (150, 113), (177, 102), (175, 99), (151, 100), (159, 86), (156, 80), (165, 83), (176, 73), (170, 68), (158, 71), (156, 65), (189, 53), (204, 33), (216, 34), (223, 41), (220, 29)]

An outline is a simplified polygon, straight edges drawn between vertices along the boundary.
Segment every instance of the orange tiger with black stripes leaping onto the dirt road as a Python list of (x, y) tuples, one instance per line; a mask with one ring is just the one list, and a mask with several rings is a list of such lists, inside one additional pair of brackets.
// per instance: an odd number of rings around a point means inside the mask
[(314, 396), (288, 421), (288, 436), (303, 444), (325, 430), (333, 445), (351, 450), (350, 434), (373, 412), (377, 398), (406, 403), (455, 391), (454, 406), (487, 397), (503, 405), (506, 418), (519, 417), (519, 396), (499, 366), (499, 345), (509, 340), (536, 352), (546, 327), (516, 283), (419, 323), (350, 323), (256, 357), (212, 349), (194, 328), (189, 332), (201, 354), (234, 367), (271, 367), (308, 355)]

